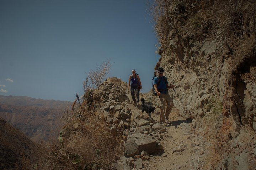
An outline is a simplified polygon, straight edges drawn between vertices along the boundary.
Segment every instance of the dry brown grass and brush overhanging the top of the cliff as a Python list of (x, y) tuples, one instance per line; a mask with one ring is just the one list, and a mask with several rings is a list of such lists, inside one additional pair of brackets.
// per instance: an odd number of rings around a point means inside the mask
[[(186, 33), (190, 39), (202, 40), (211, 37), (219, 41), (242, 37), (243, 10), (254, 1), (187, 1), (156, 0), (151, 10), (159, 40), (166, 40), (171, 31)], [(184, 27), (186, 25), (186, 27)]]

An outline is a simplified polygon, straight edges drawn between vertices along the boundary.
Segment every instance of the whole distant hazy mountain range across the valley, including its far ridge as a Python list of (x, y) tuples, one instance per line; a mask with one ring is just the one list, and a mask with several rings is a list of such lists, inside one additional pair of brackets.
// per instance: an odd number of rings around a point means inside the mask
[(0, 116), (40, 143), (57, 137), (63, 126), (63, 114), (73, 102), (0, 95)]

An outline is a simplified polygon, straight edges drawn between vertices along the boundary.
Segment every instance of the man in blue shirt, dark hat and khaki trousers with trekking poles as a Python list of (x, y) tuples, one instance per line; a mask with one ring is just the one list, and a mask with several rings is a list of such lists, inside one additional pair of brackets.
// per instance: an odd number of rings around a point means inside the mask
[[(154, 85), (155, 92), (157, 93), (157, 96), (159, 96), (162, 104), (161, 111), (160, 111), (160, 124), (163, 124), (165, 121), (165, 118), (168, 120), (168, 116), (170, 115), (171, 110), (174, 107), (172, 98), (168, 94), (168, 89), (174, 88), (175, 85), (171, 85), (171, 86), (168, 85), (167, 78), (163, 76), (164, 68), (159, 67), (157, 72), (158, 72), (158, 77), (157, 76), (154, 77), (153, 85)], [(166, 110), (165, 110), (165, 103), (167, 103)]]

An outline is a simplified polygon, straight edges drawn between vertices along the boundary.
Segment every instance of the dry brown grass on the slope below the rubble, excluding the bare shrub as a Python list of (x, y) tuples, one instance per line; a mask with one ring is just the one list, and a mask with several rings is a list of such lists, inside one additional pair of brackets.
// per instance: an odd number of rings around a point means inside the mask
[(49, 142), (47, 169), (109, 169), (123, 153), (123, 141), (112, 137), (105, 121), (95, 119), (88, 107), (75, 108), (66, 119), (59, 142)]

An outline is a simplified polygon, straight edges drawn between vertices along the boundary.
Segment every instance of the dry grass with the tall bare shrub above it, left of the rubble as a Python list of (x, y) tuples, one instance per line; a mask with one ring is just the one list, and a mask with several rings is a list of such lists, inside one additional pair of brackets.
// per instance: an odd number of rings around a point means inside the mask
[(94, 88), (100, 87), (110, 66), (107, 60), (100, 67), (97, 66), (96, 71), (91, 70), (87, 74), (81, 106), (76, 104), (76, 99), (72, 111), (65, 112), (65, 125), (58, 141), (49, 142), (50, 151), (44, 156), (46, 166), (43, 169), (110, 169), (112, 160), (123, 154), (121, 138), (112, 137), (106, 120), (94, 116)]

